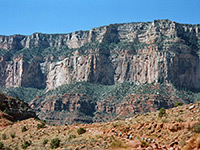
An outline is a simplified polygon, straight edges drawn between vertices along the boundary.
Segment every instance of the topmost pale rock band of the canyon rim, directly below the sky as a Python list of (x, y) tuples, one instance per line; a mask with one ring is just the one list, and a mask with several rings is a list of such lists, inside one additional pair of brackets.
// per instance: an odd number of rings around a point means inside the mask
[(0, 49), (21, 49), (34, 46), (79, 48), (89, 42), (139, 41), (154, 43), (164, 35), (176, 38), (179, 33), (200, 37), (200, 25), (178, 24), (169, 20), (154, 20), (147, 23), (111, 24), (93, 28), (90, 31), (76, 31), (69, 34), (34, 33), (29, 36), (0, 36)]

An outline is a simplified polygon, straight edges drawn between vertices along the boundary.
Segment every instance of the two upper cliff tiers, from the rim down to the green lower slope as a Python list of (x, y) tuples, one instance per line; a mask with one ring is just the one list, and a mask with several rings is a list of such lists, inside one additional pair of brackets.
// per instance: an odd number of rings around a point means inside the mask
[[(39, 61), (27, 62), (23, 59), (27, 54), (23, 52), (11, 59), (1, 56), (0, 85), (54, 89), (80, 81), (100, 84), (128, 81), (172, 82), (178, 87), (199, 89), (199, 31), (199, 25), (158, 20), (114, 24), (70, 34), (0, 36), (1, 51), (14, 53), (30, 49), (34, 53), (34, 47), (59, 49), (63, 46), (68, 47), (64, 51), (71, 51), (71, 55), (63, 55), (59, 60), (43, 55)], [(85, 44), (94, 42), (115, 43), (115, 47), (84, 49)], [(129, 45), (120, 47), (124, 43)], [(38, 56), (37, 53), (31, 57)]]

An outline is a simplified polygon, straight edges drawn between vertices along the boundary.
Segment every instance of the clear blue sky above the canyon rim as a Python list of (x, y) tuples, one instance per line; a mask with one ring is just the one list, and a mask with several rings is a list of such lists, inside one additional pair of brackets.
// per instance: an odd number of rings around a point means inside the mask
[(155, 19), (200, 24), (200, 0), (0, 0), (0, 35), (69, 33)]

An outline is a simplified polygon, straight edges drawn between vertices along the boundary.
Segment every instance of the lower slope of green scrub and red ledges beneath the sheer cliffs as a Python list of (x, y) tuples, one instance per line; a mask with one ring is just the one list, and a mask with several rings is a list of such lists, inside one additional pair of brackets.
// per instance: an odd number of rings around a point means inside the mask
[[(123, 83), (111, 86), (76, 83), (38, 95), (29, 104), (51, 124), (107, 122), (191, 103), (195, 94), (171, 85)], [(198, 97), (198, 96), (197, 96)]]

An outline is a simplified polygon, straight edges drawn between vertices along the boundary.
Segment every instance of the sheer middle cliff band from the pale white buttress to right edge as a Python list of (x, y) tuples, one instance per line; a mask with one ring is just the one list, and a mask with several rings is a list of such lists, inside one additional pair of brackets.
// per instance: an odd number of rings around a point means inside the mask
[(108, 85), (170, 82), (178, 87), (199, 89), (199, 70), (198, 56), (190, 52), (159, 52), (158, 47), (153, 45), (140, 49), (134, 55), (128, 52), (111, 54), (109, 57), (99, 53), (76, 55), (50, 64), (47, 88), (55, 89), (62, 84), (87, 81)]

